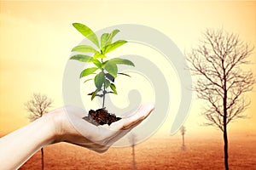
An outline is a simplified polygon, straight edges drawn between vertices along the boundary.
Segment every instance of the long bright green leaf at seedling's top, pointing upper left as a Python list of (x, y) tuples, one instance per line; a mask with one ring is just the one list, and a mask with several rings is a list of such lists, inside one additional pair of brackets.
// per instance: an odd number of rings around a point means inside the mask
[(73, 23), (73, 27), (75, 27), (82, 35), (84, 35), (84, 37), (87, 37), (91, 42), (96, 44), (98, 48), (100, 48), (96, 34), (94, 31), (91, 31), (88, 26), (84, 26), (81, 23)]

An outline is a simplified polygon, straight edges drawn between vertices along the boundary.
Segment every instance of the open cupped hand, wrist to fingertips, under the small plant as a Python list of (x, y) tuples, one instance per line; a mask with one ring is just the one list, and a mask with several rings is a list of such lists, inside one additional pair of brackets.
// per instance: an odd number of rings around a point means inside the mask
[[(87, 113), (75, 106), (62, 107), (55, 114), (55, 139), (53, 143), (68, 142), (102, 153), (117, 140), (130, 132), (154, 110), (153, 104), (141, 105), (136, 111), (121, 116), (121, 120), (102, 126), (95, 126), (82, 119)], [(50, 114), (50, 113), (49, 113)]]

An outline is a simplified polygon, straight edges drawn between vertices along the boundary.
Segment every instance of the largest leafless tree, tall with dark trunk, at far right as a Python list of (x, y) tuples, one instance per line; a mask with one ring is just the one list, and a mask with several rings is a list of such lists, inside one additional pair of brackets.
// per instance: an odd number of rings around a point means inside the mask
[(244, 94), (253, 90), (255, 82), (253, 72), (245, 70), (252, 52), (235, 34), (207, 30), (201, 45), (187, 54), (190, 69), (198, 76), (195, 92), (207, 104), (203, 112), (206, 124), (223, 132), (225, 169), (229, 169), (228, 124), (243, 118), (250, 105)]

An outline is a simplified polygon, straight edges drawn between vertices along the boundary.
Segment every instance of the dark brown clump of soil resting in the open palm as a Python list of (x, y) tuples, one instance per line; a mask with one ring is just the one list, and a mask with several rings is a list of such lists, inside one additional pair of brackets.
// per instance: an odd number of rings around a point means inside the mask
[(108, 124), (119, 121), (121, 118), (114, 114), (108, 113), (105, 108), (98, 109), (96, 111), (90, 110), (88, 116), (84, 116), (83, 119), (96, 126)]

